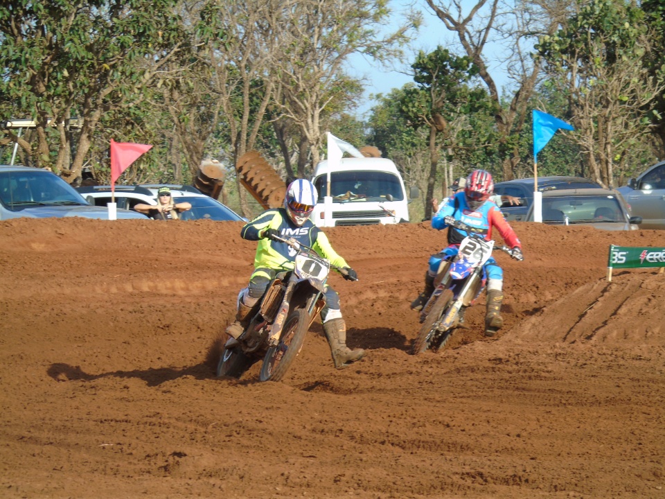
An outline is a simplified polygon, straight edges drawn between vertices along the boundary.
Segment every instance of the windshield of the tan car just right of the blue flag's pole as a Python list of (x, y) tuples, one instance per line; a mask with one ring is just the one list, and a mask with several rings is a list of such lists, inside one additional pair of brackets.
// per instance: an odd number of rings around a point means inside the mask
[(542, 199), (542, 221), (569, 224), (626, 223), (626, 215), (614, 195), (575, 195)]

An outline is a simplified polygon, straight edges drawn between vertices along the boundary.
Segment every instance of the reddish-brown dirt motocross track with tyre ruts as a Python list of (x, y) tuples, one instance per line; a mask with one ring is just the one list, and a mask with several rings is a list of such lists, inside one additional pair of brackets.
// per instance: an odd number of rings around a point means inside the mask
[(206, 363), (251, 274), (227, 222), (0, 222), (0, 497), (665, 498), (665, 274), (608, 247), (665, 231), (516, 224), (449, 349), (409, 355), (409, 301), (443, 234), (329, 229), (360, 281), (331, 278), (349, 344), (315, 324), (282, 383)]

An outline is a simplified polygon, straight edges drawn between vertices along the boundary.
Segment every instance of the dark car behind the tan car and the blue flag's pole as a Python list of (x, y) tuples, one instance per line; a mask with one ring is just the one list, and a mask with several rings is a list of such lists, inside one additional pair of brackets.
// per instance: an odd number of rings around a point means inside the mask
[[(504, 202), (499, 208), (506, 220), (526, 220), (526, 213), (533, 204), (533, 177), (497, 182), (494, 193), (520, 198), (518, 206)], [(538, 191), (547, 192), (558, 189), (602, 189), (603, 186), (584, 177), (538, 177)]]

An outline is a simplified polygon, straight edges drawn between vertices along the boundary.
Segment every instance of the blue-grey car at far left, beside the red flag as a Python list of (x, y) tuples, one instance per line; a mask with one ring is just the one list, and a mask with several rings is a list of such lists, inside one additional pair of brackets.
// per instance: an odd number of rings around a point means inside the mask
[[(48, 170), (0, 166), (0, 220), (74, 216), (108, 220), (109, 211), (91, 206), (72, 186)], [(148, 217), (119, 209), (116, 218)]]

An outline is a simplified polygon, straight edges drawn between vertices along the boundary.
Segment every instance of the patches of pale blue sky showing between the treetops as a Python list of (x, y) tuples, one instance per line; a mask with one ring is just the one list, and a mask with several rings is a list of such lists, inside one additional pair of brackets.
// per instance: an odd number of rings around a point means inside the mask
[[(395, 24), (399, 24), (399, 19), (401, 18), (401, 12), (404, 12), (407, 5), (409, 5), (409, 0), (393, 0), (391, 2), (393, 16), (396, 19)], [(462, 5), (468, 7), (468, 10), (477, 3), (476, 1), (463, 0)], [(357, 110), (359, 116), (363, 116), (373, 105), (375, 101), (371, 100), (371, 94), (388, 94), (393, 88), (400, 88), (408, 82), (412, 82), (413, 79), (408, 75), (409, 65), (411, 61), (415, 59), (416, 53), (418, 50), (423, 50), (426, 52), (433, 51), (436, 49), (436, 46), (441, 45), (445, 48), (462, 55), (461, 47), (459, 44), (456, 44), (456, 34), (449, 32), (443, 22), (439, 20), (424, 0), (417, 0), (416, 8), (423, 12), (423, 26), (420, 27), (418, 32), (418, 37), (416, 42), (412, 44), (409, 49), (405, 49), (406, 58), (405, 63), (394, 64), (393, 68), (384, 68), (380, 64), (376, 64), (373, 61), (363, 58), (360, 55), (355, 55), (351, 59), (351, 69), (350, 73), (357, 78), (365, 78), (366, 80), (366, 90), (365, 90), (365, 99), (363, 105)], [(503, 49), (498, 44), (488, 44), (488, 49), (491, 49), (486, 53), (490, 56), (494, 53), (500, 53)], [(499, 88), (508, 85), (508, 78), (504, 71), (499, 67), (497, 62), (494, 66), (490, 61), (490, 74), (495, 79), (495, 82)]]

